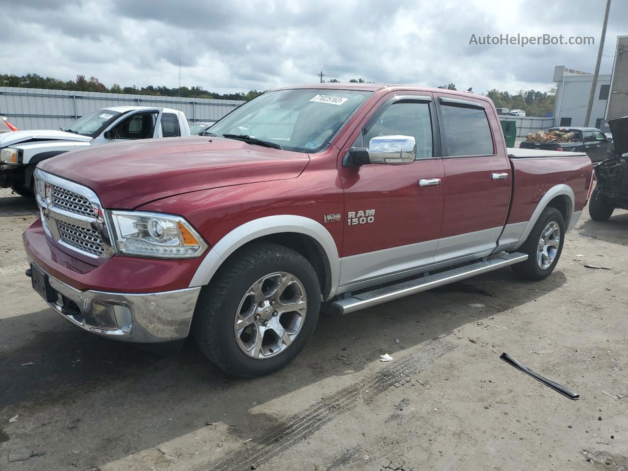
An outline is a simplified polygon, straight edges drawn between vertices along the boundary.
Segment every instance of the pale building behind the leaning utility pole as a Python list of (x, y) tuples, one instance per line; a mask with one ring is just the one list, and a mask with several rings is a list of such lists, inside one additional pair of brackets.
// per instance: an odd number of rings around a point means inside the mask
[[(598, 75), (597, 89), (593, 99), (589, 126), (600, 129), (606, 115), (609, 99), (610, 74)], [(588, 99), (593, 84), (593, 73), (581, 72), (556, 65), (556, 100), (554, 104), (554, 126), (586, 126)]]

